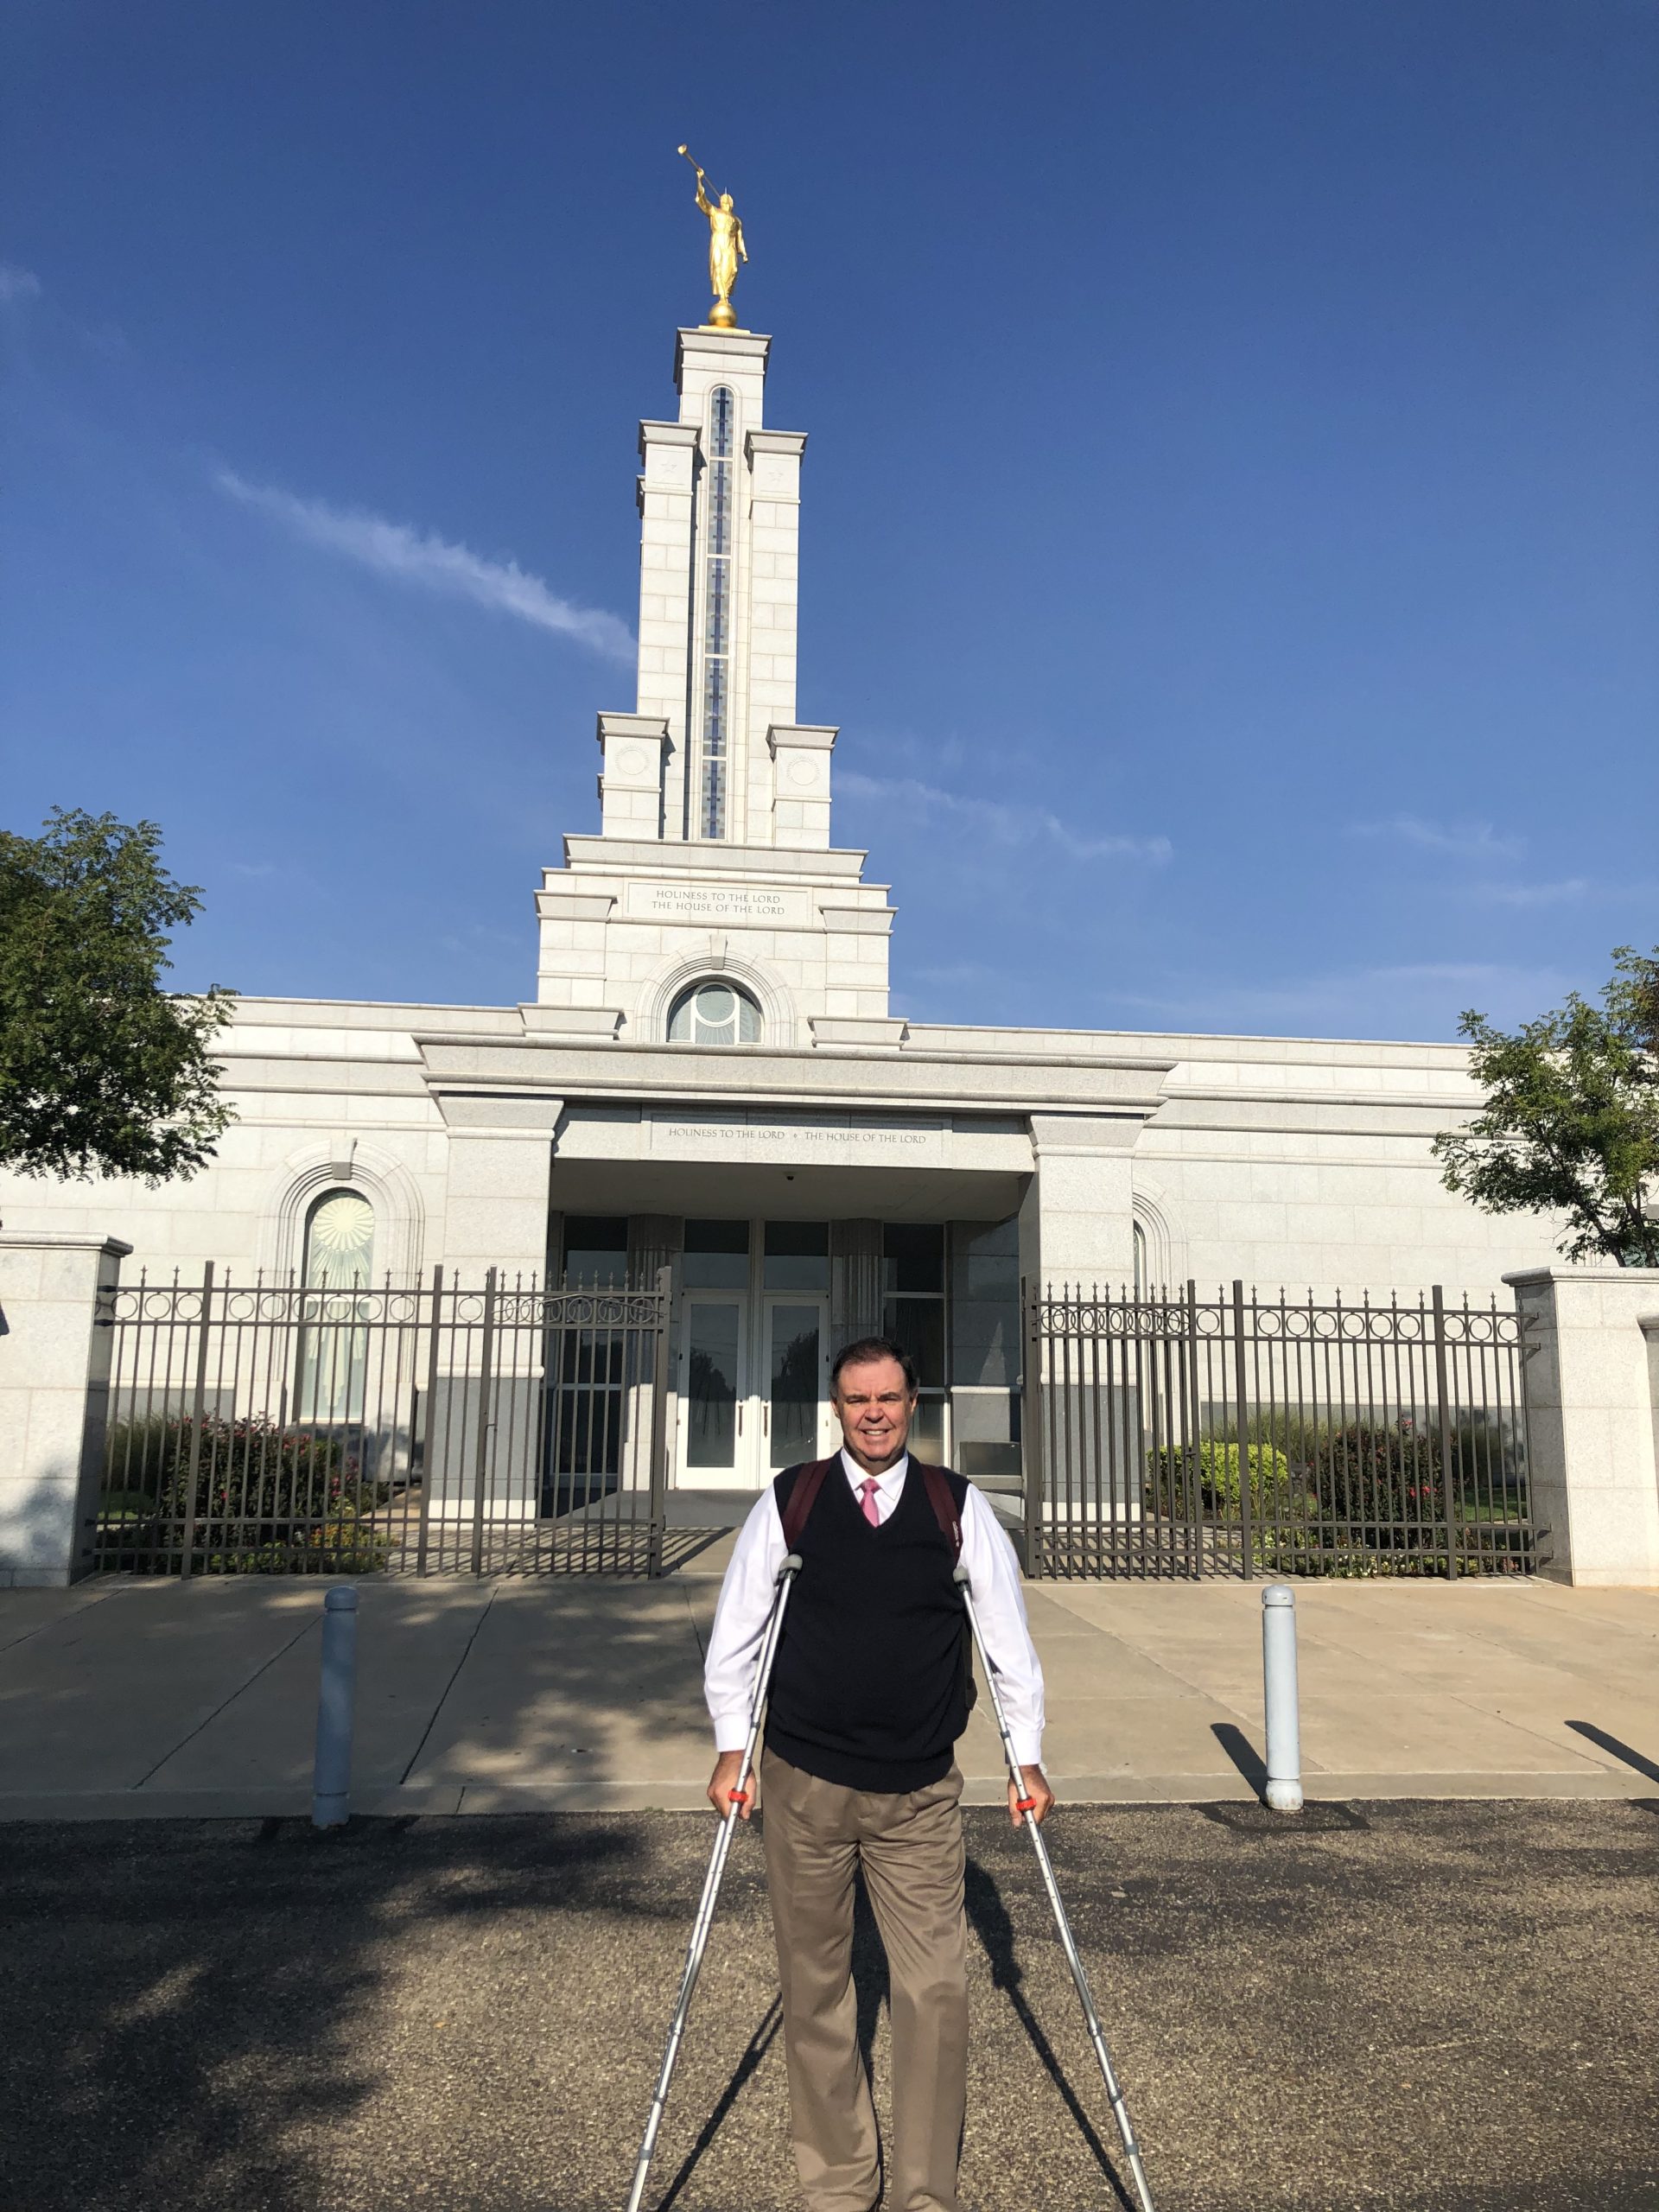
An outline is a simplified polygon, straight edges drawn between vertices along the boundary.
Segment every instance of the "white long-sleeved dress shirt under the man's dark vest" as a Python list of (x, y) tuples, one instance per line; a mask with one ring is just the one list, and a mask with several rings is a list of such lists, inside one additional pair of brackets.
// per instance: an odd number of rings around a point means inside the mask
[[(872, 1475), (845, 1451), (841, 1467), (852, 1484), (854, 1504), (860, 1504), (858, 1493)], [(885, 1475), (874, 1478), (880, 1522), (891, 1517), (905, 1495), (907, 1471), (909, 1453)], [(748, 1741), (754, 1661), (761, 1652), (781, 1566), (783, 1520), (776, 1493), (768, 1482), (737, 1537), (703, 1661), (703, 1697), (714, 1721), (714, 1747), (721, 1752), (741, 1752)], [(1022, 1767), (1035, 1767), (1042, 1763), (1042, 1661), (1026, 1628), (1020, 1562), (1006, 1531), (971, 1482), (962, 1502), (962, 1566), (973, 1584), (984, 1650), (995, 1668), (1002, 1710), (1009, 1717), (1013, 1756)]]

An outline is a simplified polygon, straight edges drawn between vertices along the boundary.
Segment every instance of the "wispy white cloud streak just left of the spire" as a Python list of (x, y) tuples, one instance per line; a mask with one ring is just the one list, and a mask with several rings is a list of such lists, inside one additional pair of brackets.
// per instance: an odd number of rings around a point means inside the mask
[(484, 560), (471, 546), (409, 529), (407, 522), (330, 507), (325, 500), (299, 500), (272, 484), (250, 484), (232, 469), (219, 469), (215, 482), (228, 498), (270, 515), (305, 544), (354, 560), (361, 568), (398, 584), (416, 584), (420, 591), (447, 593), (451, 599), (471, 599), (500, 615), (515, 615), (538, 630), (573, 637), (611, 661), (633, 661), (633, 633), (626, 622), (597, 606), (560, 599), (540, 575), (531, 575), (513, 560)]

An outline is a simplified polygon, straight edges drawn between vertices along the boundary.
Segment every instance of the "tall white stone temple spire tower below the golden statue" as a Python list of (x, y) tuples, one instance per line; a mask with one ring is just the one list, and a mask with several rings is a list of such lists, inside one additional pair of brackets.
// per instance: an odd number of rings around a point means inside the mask
[[(807, 440), (765, 427), (770, 349), (681, 330), (679, 418), (639, 425), (639, 686), (599, 714), (599, 834), (566, 836), (538, 891), (549, 1040), (863, 1048), (905, 1026), (887, 887), (830, 845), (836, 732), (794, 719)], [(686, 1011), (701, 991), (737, 1009), (730, 1037)]]

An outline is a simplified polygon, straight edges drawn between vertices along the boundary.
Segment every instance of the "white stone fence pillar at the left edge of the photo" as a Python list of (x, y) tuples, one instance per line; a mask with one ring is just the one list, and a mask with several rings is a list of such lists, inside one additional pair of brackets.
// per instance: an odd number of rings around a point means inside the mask
[(91, 1571), (111, 1301), (131, 1250), (0, 1230), (0, 1588), (62, 1588)]

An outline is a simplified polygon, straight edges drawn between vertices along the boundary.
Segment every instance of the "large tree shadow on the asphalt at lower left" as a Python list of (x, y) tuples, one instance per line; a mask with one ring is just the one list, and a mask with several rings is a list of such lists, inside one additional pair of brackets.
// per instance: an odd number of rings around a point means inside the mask
[[(398, 2002), (414, 1931), (447, 1922), (449, 1955), (465, 1955), (473, 1916), (522, 1927), (635, 1882), (639, 1851), (615, 1823), (440, 1825), (11, 1825), (0, 2203), (316, 2212), (343, 2146), (374, 2172), (376, 2015)], [(409, 2057), (429, 2062), (445, 2022), (407, 2026)]]

